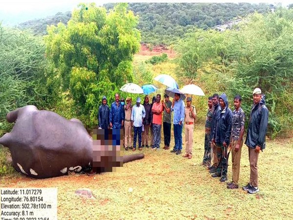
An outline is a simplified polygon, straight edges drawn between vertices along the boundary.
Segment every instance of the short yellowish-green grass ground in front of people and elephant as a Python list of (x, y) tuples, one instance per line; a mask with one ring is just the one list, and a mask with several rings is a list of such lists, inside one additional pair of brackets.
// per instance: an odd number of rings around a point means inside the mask
[[(195, 125), (192, 159), (144, 148), (144, 159), (127, 163), (117, 172), (41, 180), (8, 175), (1, 177), (0, 187), (58, 188), (58, 219), (62, 220), (293, 219), (293, 139), (268, 141), (258, 162), (260, 192), (248, 195), (242, 189), (228, 190), (226, 183), (211, 178), (200, 166), (203, 131), (203, 125)], [(171, 146), (173, 143), (171, 139)], [(245, 145), (240, 169), (239, 184), (245, 185), (250, 171)], [(231, 166), (228, 177), (231, 180)], [(76, 196), (74, 192), (80, 188), (91, 189), (96, 199)]]

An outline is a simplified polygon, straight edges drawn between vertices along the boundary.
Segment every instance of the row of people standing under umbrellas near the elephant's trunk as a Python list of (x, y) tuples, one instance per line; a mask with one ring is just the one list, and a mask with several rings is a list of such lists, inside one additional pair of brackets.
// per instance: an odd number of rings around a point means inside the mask
[[(193, 128), (196, 119), (196, 110), (191, 106), (191, 98), (187, 98), (187, 106), (181, 98), (180, 93), (175, 93), (173, 101), (169, 100), (167, 94), (164, 100), (157, 94), (149, 103), (149, 96), (145, 96), (144, 103), (141, 104), (141, 98), (136, 99), (136, 104), (132, 106), (131, 98), (120, 99), (119, 94), (115, 94), (115, 102), (111, 108), (107, 105), (107, 99), (104, 96), (102, 105), (99, 107), (99, 128), (100, 129), (123, 129), (123, 144), (126, 151), (131, 149), (136, 151), (138, 137), (138, 149), (143, 147), (152, 150), (160, 150), (161, 129), (163, 125), (164, 144), (163, 149), (170, 149), (171, 123), (173, 113), (173, 129), (175, 145), (171, 153), (182, 154), (182, 130), (185, 125), (186, 151), (184, 157), (192, 158)], [(131, 145), (131, 134), (133, 128), (133, 145)], [(150, 138), (149, 138), (150, 137)], [(150, 144), (150, 145), (148, 145)]]

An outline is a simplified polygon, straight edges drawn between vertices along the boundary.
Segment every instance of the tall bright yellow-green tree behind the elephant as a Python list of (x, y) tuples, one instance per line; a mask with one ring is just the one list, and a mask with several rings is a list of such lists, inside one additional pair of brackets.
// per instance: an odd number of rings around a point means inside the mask
[[(52, 65), (47, 82), (53, 90), (69, 91), (77, 116), (93, 128), (103, 95), (111, 103), (118, 88), (133, 80), (132, 59), (140, 48), (140, 33), (138, 18), (126, 3), (108, 14), (94, 3), (79, 7), (67, 26), (59, 23), (47, 29), (46, 54)], [(55, 78), (59, 85), (52, 84)]]

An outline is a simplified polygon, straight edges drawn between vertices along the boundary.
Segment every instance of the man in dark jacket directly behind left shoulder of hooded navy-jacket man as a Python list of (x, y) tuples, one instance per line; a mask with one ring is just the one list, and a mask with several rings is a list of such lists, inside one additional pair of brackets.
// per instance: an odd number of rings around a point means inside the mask
[[(219, 105), (219, 95), (217, 93), (213, 94), (212, 96), (212, 105), (213, 105), (213, 113), (211, 118), (211, 126), (210, 126), (210, 140), (212, 139), (212, 132), (215, 129), (216, 121), (219, 118), (221, 113), (221, 106)], [(217, 148), (214, 144), (211, 146), (211, 166), (209, 167), (209, 173), (213, 174), (216, 172), (217, 166), (219, 164), (218, 157), (217, 157)]]

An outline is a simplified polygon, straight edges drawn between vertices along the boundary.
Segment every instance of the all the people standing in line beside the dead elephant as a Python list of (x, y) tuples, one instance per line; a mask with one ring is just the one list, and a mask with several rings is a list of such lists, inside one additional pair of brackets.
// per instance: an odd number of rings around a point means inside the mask
[[(242, 187), (250, 194), (259, 192), (257, 161), (260, 151), (265, 149), (265, 136), (268, 126), (269, 111), (265, 105), (264, 95), (260, 88), (252, 92), (253, 105), (251, 108), (248, 131), (245, 144), (249, 149), (250, 181)], [(149, 103), (146, 95), (144, 103), (136, 99), (136, 105), (132, 106), (131, 98), (120, 99), (115, 94), (115, 102), (111, 108), (107, 105), (106, 97), (103, 97), (102, 105), (99, 107), (100, 129), (123, 129), (124, 139), (122, 145), (126, 151), (136, 150), (137, 136), (138, 149), (143, 147), (152, 150), (160, 150), (161, 128), (163, 125), (164, 144), (163, 149), (170, 148), (171, 123), (174, 130), (174, 148), (170, 151), (182, 154), (182, 130), (185, 124), (186, 149), (184, 157), (192, 158), (193, 129), (196, 119), (195, 107), (191, 105), (191, 98), (187, 98), (187, 105), (181, 98), (180, 93), (175, 93), (172, 102), (167, 94), (164, 100), (157, 94)], [(232, 154), (232, 181), (227, 183), (228, 189), (237, 189), (240, 172), (241, 149), (245, 131), (245, 112), (241, 109), (242, 98), (240, 95), (234, 97), (234, 110), (230, 110), (228, 98), (225, 93), (214, 94), (208, 99), (208, 112), (205, 124), (205, 153), (203, 165), (209, 168), (212, 177), (220, 177), (221, 182), (228, 180), (228, 158)], [(173, 112), (173, 121), (171, 113)], [(133, 128), (133, 145), (131, 145), (131, 134)], [(150, 139), (149, 139), (150, 137)], [(148, 143), (150, 145), (148, 145)]]

